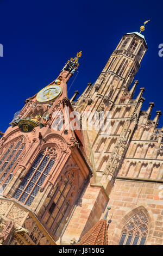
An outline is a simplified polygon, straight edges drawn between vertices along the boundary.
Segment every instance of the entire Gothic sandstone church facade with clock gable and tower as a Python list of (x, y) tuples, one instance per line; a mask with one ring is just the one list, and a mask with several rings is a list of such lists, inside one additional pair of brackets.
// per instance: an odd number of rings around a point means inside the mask
[(134, 95), (146, 51), (141, 33), (124, 34), (69, 100), (79, 52), (1, 133), (2, 245), (163, 244), (161, 111), (151, 120), (145, 88)]

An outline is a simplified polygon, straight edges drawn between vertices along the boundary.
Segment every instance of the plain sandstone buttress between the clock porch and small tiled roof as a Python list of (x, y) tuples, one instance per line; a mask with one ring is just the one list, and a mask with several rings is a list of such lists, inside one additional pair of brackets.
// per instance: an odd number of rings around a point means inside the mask
[(78, 241), (79, 237), (91, 229), (99, 221), (107, 203), (108, 198), (106, 198), (102, 188), (91, 187), (89, 184), (67, 225), (62, 237), (63, 244), (70, 244), (70, 240), (73, 238)]

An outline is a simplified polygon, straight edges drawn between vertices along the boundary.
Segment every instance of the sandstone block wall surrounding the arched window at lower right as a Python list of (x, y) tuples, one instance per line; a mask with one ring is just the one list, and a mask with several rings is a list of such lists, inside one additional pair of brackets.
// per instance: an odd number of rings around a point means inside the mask
[[(108, 228), (110, 245), (120, 241), (124, 224), (142, 210), (148, 219), (148, 236), (145, 245), (163, 244), (163, 184), (116, 180), (110, 193)], [(162, 196), (163, 197), (163, 196)]]

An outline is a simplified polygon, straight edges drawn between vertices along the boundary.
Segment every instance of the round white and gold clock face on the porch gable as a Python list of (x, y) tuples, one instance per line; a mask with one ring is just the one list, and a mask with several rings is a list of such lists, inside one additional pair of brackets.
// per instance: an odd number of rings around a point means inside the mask
[(61, 87), (57, 85), (47, 86), (37, 93), (36, 100), (39, 102), (53, 100), (60, 95), (61, 90)]

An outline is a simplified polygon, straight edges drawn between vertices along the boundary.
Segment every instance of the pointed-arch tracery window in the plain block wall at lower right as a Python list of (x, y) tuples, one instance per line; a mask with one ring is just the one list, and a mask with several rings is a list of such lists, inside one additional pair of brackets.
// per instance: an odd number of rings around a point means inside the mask
[(148, 220), (143, 211), (124, 225), (119, 245), (144, 245), (148, 234)]

